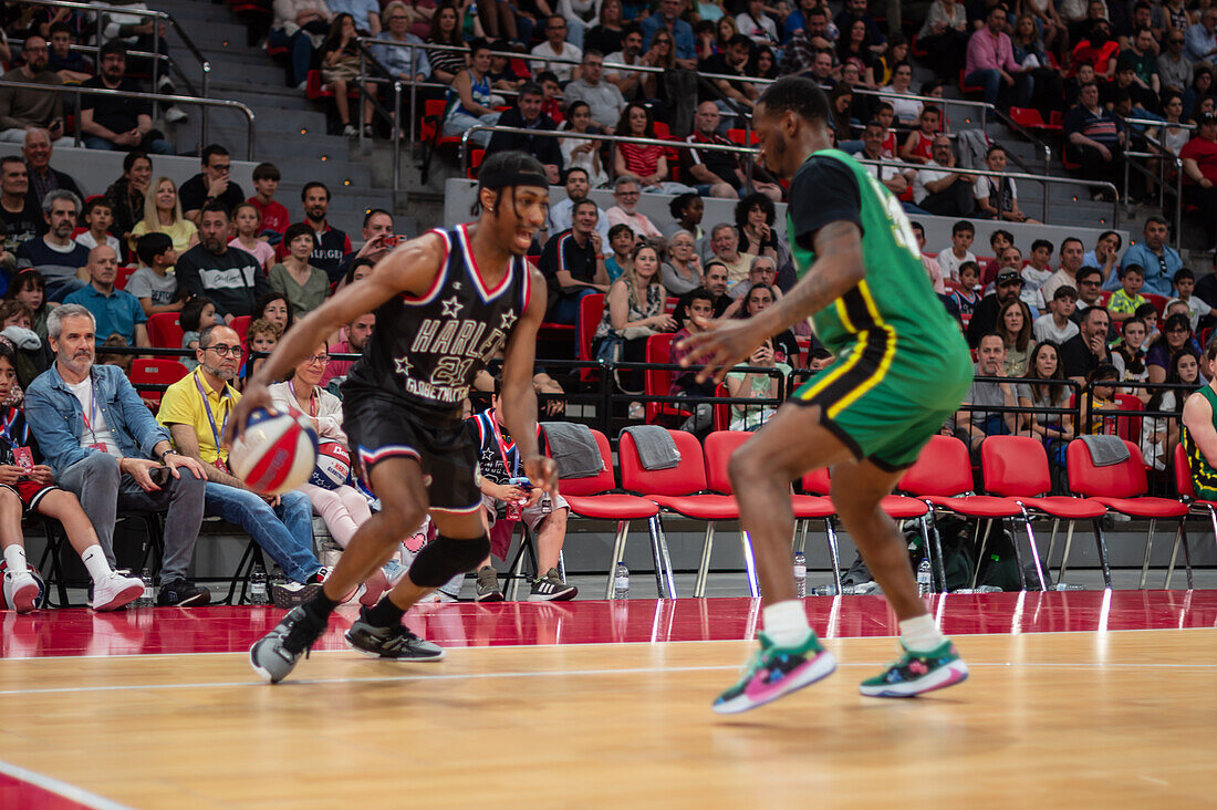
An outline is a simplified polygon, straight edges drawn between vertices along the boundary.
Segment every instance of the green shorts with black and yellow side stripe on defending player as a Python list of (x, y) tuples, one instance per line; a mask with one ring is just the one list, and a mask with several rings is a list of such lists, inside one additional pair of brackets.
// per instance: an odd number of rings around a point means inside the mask
[(897, 471), (913, 465), (952, 418), (972, 380), (970, 358), (913, 356), (882, 341), (858, 343), (791, 398), (820, 406), (820, 423), (859, 459)]

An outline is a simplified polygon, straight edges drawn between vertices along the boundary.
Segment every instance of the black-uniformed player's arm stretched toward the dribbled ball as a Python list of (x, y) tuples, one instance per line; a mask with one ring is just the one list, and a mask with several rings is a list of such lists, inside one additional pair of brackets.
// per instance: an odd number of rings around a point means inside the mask
[(366, 278), (342, 287), (320, 307), (296, 322), (246, 384), (245, 395), (232, 409), (232, 418), (224, 431), (224, 443), (230, 445), (245, 430), (246, 419), (254, 408), (270, 407), (270, 392), (267, 389), (270, 382), (285, 378), (342, 324), (374, 312), (394, 295), (426, 292), (443, 261), (442, 238), (424, 234), (411, 239), (377, 262)]

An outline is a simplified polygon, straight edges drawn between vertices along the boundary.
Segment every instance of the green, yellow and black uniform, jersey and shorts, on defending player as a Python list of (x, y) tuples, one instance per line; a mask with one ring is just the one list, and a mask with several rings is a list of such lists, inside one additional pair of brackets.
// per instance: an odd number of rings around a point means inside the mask
[(972, 379), (968, 343), (921, 266), (908, 217), (865, 168), (835, 149), (811, 155), (790, 185), (786, 228), (800, 276), (815, 263), (815, 233), (834, 222), (862, 231), (867, 278), (812, 317), (837, 361), (795, 402), (858, 458), (898, 470), (963, 402)]

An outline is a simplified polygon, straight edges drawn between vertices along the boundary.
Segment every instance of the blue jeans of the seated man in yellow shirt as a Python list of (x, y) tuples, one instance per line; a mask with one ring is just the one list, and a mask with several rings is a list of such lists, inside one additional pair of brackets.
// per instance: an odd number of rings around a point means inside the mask
[(321, 570), (313, 553), (313, 504), (303, 492), (285, 492), (279, 505), (271, 508), (248, 490), (208, 481), (203, 514), (245, 529), (295, 582)]

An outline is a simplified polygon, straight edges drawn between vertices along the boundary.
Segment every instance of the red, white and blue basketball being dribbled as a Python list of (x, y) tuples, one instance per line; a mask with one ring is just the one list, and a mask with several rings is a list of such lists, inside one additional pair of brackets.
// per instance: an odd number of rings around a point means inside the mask
[(232, 475), (262, 495), (282, 495), (308, 481), (316, 467), (318, 438), (301, 417), (258, 408), (232, 442)]

